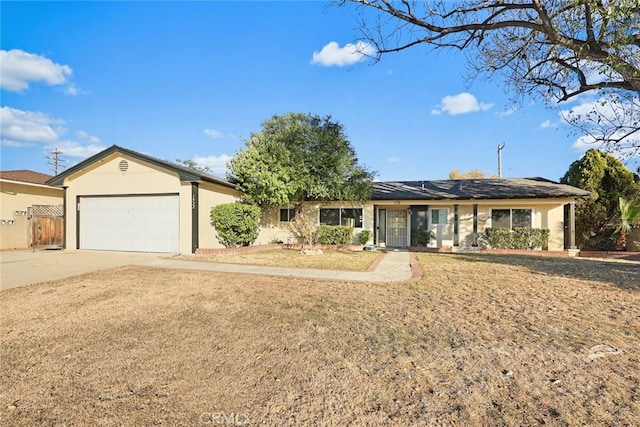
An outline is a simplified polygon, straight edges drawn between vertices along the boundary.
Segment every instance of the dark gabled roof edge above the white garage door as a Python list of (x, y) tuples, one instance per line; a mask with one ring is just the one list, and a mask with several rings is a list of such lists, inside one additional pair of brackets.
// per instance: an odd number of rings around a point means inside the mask
[(133, 157), (135, 159), (139, 159), (142, 160), (144, 162), (148, 162), (151, 163), (153, 165), (156, 166), (160, 166), (164, 169), (170, 170), (172, 172), (176, 172), (178, 174), (178, 176), (180, 177), (180, 181), (204, 181), (204, 182), (210, 182), (213, 184), (219, 184), (225, 187), (229, 187), (229, 188), (233, 188), (236, 189), (236, 185), (230, 183), (229, 181), (226, 181), (222, 178), (217, 178), (215, 176), (211, 176), (211, 175), (207, 175), (207, 174), (203, 174), (201, 172), (195, 171), (193, 169), (189, 169), (187, 167), (184, 166), (180, 166), (177, 165), (175, 163), (171, 163), (168, 162), (166, 160), (161, 160), (146, 154), (142, 154), (142, 153), (138, 153), (137, 151), (133, 151), (133, 150), (129, 150), (128, 148), (123, 148), (120, 147), (118, 145), (112, 145), (111, 147), (99, 152), (98, 154), (94, 154), (93, 156), (89, 157), (88, 159), (83, 160), (82, 162), (78, 163), (77, 165), (70, 167), (69, 169), (66, 169), (64, 172), (62, 172), (61, 174), (51, 178), (50, 180), (47, 181), (47, 184), (49, 185), (57, 185), (57, 186), (62, 186), (64, 185), (64, 180), (65, 178), (67, 178), (70, 175), (73, 175), (76, 172), (81, 171), (82, 169), (84, 169), (85, 167), (87, 167), (88, 165), (97, 162), (101, 159), (104, 159), (105, 157), (110, 156), (113, 153), (121, 153), (121, 154), (126, 154), (130, 157)]

